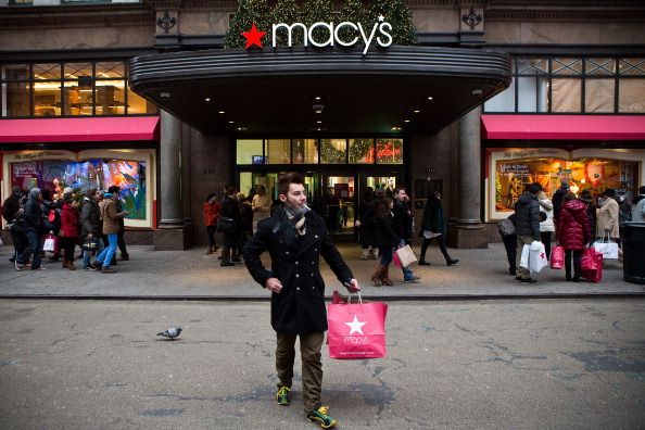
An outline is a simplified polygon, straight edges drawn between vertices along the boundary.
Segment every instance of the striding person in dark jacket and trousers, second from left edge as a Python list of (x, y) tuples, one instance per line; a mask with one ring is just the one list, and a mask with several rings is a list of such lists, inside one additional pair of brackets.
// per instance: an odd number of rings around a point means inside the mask
[(21, 271), (26, 267), (27, 261), (31, 260), (31, 270), (43, 270), (41, 265), (42, 238), (45, 236), (45, 218), (42, 217), (42, 193), (40, 188), (34, 187), (29, 190), (29, 198), (25, 203), (24, 233), (27, 239), (27, 246), (15, 258), (15, 269)]

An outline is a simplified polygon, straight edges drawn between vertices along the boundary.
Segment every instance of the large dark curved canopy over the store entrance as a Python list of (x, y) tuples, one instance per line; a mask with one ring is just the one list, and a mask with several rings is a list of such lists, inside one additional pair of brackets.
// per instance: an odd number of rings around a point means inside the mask
[[(130, 87), (204, 132), (435, 131), (510, 84), (510, 59), (476, 49), (251, 49), (130, 61)], [(417, 111), (417, 112), (415, 112)]]

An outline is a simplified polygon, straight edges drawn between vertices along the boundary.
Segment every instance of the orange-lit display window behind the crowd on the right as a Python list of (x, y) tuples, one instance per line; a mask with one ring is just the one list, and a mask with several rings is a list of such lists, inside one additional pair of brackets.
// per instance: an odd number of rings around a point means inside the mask
[(499, 149), (489, 152), (488, 219), (506, 218), (524, 187), (539, 182), (551, 198), (560, 184), (579, 195), (605, 189), (632, 195), (644, 177), (645, 150)]

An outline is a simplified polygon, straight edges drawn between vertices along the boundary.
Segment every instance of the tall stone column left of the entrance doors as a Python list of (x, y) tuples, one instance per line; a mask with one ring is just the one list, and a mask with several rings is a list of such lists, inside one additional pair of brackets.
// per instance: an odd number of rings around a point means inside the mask
[(181, 122), (161, 110), (160, 150), (161, 220), (154, 231), (154, 249), (176, 251), (188, 248), (181, 203)]

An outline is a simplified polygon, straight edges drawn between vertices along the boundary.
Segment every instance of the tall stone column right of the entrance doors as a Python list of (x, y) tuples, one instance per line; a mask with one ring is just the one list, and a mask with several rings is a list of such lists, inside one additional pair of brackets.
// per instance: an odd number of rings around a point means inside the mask
[(450, 237), (453, 246), (489, 248), (480, 216), (481, 184), (480, 108), (476, 108), (459, 119), (459, 203), (457, 227)]

